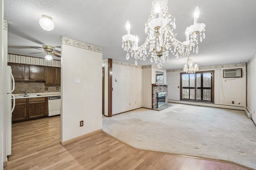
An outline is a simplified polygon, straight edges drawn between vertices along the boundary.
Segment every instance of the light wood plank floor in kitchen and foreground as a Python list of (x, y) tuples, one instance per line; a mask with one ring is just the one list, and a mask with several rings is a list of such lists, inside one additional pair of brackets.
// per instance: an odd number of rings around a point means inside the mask
[(246, 170), (240, 166), (134, 150), (104, 132), (61, 146), (60, 117), (12, 125), (12, 154), (4, 170)]

